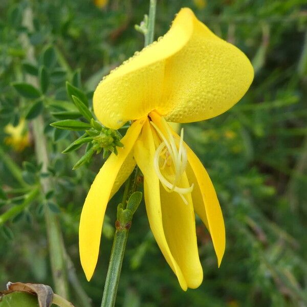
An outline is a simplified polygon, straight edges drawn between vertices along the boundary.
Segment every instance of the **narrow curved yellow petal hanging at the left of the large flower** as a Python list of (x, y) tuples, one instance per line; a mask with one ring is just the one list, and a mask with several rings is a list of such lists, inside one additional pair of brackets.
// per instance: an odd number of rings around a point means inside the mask
[(112, 153), (103, 164), (86, 196), (80, 217), (79, 250), (81, 265), (87, 280), (92, 278), (97, 264), (103, 218), (112, 187), (122, 164), (140, 134), (144, 122), (145, 120), (141, 119), (129, 127), (121, 140), (124, 147), (118, 148), (118, 155)]

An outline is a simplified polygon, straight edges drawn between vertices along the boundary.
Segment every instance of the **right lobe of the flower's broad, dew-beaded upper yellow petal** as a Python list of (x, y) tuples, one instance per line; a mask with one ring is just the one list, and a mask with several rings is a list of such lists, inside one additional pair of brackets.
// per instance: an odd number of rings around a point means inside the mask
[(243, 97), (253, 76), (245, 54), (193, 15), (192, 35), (165, 66), (162, 101), (172, 106), (171, 111), (157, 111), (166, 120), (181, 123), (215, 117)]

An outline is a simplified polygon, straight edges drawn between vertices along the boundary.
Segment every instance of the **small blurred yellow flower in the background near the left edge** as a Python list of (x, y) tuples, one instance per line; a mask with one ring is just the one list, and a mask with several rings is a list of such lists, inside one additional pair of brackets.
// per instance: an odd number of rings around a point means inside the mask
[(20, 118), (17, 126), (8, 124), (5, 126), (4, 131), (9, 136), (4, 139), (7, 145), (10, 145), (16, 151), (23, 151), (30, 145), (29, 131), (26, 130), (26, 121), (24, 118)]

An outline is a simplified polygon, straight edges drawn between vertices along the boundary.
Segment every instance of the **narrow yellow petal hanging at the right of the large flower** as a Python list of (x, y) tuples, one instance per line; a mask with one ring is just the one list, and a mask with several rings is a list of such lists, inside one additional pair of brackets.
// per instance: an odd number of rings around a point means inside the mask
[[(203, 198), (203, 202), (200, 202), (199, 199), (195, 201), (194, 209), (202, 218), (203, 222), (205, 224), (206, 222), (208, 223), (209, 232), (217, 256), (217, 264), (220, 267), (226, 245), (225, 225), (220, 203), (218, 203), (213, 184), (203, 164), (188, 145), (186, 145), (186, 149), (188, 162), (194, 172), (196, 184), (198, 184)], [(189, 179), (191, 181), (191, 178)]]

